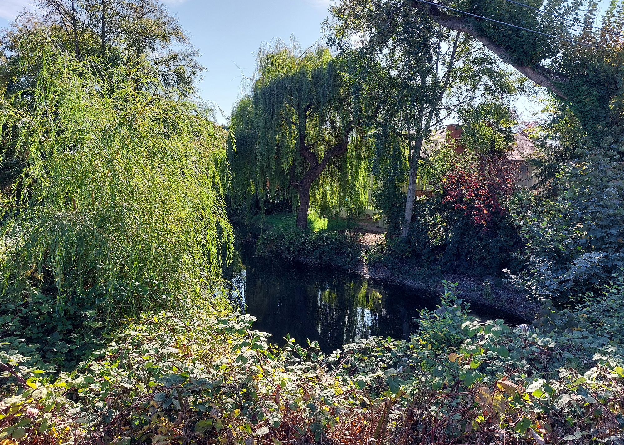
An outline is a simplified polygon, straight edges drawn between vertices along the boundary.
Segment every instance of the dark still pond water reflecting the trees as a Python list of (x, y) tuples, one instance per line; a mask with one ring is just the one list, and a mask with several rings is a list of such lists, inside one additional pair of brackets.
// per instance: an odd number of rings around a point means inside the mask
[[(258, 321), (258, 331), (272, 334), (270, 341), (285, 344), (290, 334), (301, 344), (318, 341), (324, 352), (340, 348), (356, 336), (409, 337), (419, 310), (436, 309), (439, 295), (406, 286), (366, 279), (331, 267), (310, 267), (280, 257), (255, 256), (255, 246), (243, 242), (235, 261), (224, 271), (232, 282), (232, 295), (246, 313)], [(481, 319), (513, 317), (471, 307)]]

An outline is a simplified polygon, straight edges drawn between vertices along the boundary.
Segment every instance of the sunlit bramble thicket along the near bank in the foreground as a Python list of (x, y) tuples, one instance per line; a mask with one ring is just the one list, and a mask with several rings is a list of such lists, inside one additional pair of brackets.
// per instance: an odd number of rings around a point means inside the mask
[(576, 311), (545, 309), (537, 328), (479, 322), (453, 287), (411, 341), (329, 355), (294, 340), (272, 349), (253, 317), (202, 311), (144, 314), (60, 376), (4, 343), (0, 439), (618, 443), (622, 275)]

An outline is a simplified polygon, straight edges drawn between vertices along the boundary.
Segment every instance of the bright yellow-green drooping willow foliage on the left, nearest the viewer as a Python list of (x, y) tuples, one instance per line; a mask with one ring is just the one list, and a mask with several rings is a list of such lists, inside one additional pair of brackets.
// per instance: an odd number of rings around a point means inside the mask
[(34, 280), (57, 311), (82, 298), (115, 317), (218, 277), (232, 251), (225, 137), (133, 65), (49, 46), (35, 86), (2, 100), (2, 138), (26, 165), (2, 227), (4, 292)]

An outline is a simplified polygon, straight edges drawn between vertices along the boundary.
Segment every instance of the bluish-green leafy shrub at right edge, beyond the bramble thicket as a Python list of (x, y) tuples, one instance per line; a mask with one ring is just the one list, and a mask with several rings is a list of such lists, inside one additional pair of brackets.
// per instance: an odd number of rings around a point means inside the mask
[(624, 267), (624, 164), (609, 149), (565, 164), (554, 197), (529, 195), (518, 210), (527, 271), (512, 278), (535, 298), (573, 304)]

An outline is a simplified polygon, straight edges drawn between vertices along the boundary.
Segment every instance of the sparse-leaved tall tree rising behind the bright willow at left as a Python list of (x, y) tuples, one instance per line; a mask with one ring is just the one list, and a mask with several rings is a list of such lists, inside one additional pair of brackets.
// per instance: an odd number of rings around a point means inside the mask
[[(0, 39), (0, 83), (9, 93), (23, 90), (36, 78), (36, 53), (41, 51), (37, 39), (42, 33), (79, 60), (102, 56), (114, 67), (145, 58), (149, 64), (137, 66), (152, 69), (161, 88), (176, 89), (183, 96), (195, 92), (195, 79), (203, 70), (177, 18), (157, 0), (39, 0)], [(27, 53), (33, 54), (24, 78)]]

